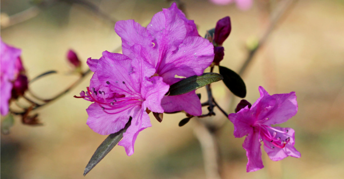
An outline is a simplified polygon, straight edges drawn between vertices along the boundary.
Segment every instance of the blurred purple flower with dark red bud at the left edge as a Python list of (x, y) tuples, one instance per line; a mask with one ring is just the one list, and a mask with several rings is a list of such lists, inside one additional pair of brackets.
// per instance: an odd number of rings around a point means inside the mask
[(1, 38), (0, 50), (0, 113), (6, 115), (10, 99), (23, 95), (28, 88), (28, 80), (20, 59), (21, 50), (5, 44)]

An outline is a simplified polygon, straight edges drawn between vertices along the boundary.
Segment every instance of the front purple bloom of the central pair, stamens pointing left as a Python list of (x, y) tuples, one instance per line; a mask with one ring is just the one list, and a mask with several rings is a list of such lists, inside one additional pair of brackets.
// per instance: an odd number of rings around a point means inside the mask
[[(133, 47), (140, 54), (140, 47)], [(162, 113), (161, 100), (169, 86), (162, 77), (151, 77), (155, 68), (138, 55), (133, 59), (123, 54), (107, 51), (102, 57), (87, 60), (94, 72), (87, 92), (81, 97), (94, 102), (87, 109), (87, 125), (95, 132), (107, 135), (124, 128), (129, 118), (131, 125), (123, 134), (119, 145), (124, 146), (128, 156), (134, 153), (134, 143), (140, 131), (150, 127), (146, 109)]]

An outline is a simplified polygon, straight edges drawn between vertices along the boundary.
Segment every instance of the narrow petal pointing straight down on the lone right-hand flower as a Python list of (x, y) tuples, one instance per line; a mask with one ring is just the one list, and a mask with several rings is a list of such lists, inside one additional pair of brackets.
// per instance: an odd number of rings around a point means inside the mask
[(261, 143), (259, 142), (259, 133), (250, 132), (243, 142), (243, 148), (246, 150), (248, 159), (246, 171), (254, 172), (262, 169), (264, 165), (262, 161)]

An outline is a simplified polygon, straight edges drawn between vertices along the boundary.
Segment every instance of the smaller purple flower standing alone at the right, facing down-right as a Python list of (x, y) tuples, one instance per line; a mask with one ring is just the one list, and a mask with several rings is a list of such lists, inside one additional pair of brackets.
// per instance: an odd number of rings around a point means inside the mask
[(246, 136), (243, 148), (248, 159), (247, 172), (264, 167), (261, 157), (262, 141), (264, 150), (272, 161), (280, 161), (288, 156), (301, 157), (300, 152), (294, 147), (295, 131), (292, 128), (271, 126), (284, 123), (296, 114), (298, 104), (295, 92), (270, 96), (263, 87), (259, 87), (259, 91), (261, 97), (251, 108), (246, 106), (228, 116), (234, 124), (234, 136)]

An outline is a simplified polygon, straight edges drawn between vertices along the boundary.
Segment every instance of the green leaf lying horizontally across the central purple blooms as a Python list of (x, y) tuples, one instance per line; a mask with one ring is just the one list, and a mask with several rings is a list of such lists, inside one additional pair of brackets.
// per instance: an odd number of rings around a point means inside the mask
[(219, 73), (203, 73), (201, 76), (190, 76), (170, 86), (170, 90), (167, 92), (169, 96), (181, 95), (193, 90), (209, 85), (223, 79), (223, 76)]

